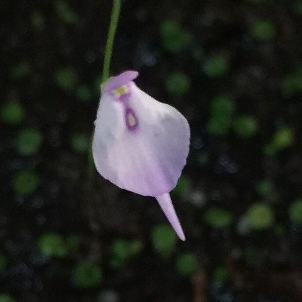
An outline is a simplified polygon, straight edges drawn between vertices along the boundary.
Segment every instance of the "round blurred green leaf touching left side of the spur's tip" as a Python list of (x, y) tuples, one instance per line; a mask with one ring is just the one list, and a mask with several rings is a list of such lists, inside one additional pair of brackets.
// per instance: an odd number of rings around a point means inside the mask
[(151, 241), (154, 249), (163, 257), (169, 257), (176, 249), (177, 237), (168, 224), (160, 224), (153, 228)]

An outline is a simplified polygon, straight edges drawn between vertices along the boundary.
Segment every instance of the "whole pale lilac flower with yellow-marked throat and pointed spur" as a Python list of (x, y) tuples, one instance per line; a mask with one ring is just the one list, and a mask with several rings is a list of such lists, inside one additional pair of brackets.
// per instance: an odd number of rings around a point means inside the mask
[(182, 227), (169, 192), (186, 164), (190, 128), (172, 106), (141, 91), (125, 71), (102, 85), (95, 121), (93, 158), (98, 172), (116, 186), (154, 196), (181, 240)]

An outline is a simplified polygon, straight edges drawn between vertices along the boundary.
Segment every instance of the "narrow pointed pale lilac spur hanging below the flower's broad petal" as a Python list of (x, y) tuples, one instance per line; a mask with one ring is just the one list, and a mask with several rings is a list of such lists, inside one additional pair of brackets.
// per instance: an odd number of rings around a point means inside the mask
[(172, 228), (176, 232), (177, 236), (182, 240), (185, 241), (186, 237), (184, 231), (180, 225), (178, 217), (176, 215), (174, 206), (172, 204), (172, 200), (169, 193), (164, 193), (163, 195), (156, 196), (156, 200), (160, 204), (163, 212), (165, 213), (167, 219), (172, 225)]

